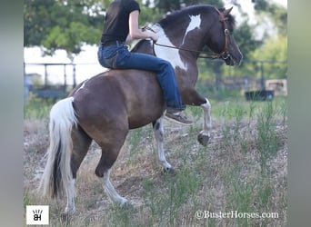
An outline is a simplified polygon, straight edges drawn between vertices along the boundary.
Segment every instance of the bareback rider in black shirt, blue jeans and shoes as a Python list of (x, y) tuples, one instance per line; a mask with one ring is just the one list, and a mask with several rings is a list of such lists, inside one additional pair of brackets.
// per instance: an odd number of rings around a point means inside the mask
[(133, 39), (158, 39), (156, 33), (138, 27), (140, 8), (135, 0), (115, 0), (108, 6), (98, 48), (98, 61), (106, 68), (149, 70), (156, 73), (166, 101), (165, 116), (177, 123), (192, 124), (182, 103), (172, 64), (149, 54), (131, 53), (125, 43)]

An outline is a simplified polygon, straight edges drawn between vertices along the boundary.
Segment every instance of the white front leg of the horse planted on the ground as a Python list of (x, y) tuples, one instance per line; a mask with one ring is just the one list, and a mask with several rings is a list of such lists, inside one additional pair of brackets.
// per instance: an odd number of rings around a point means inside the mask
[(170, 163), (167, 163), (166, 161), (166, 155), (163, 146), (164, 143), (163, 116), (161, 116), (159, 119), (156, 120), (156, 122), (153, 123), (153, 127), (156, 137), (157, 159), (167, 173), (174, 174), (175, 171), (172, 168), (172, 165)]

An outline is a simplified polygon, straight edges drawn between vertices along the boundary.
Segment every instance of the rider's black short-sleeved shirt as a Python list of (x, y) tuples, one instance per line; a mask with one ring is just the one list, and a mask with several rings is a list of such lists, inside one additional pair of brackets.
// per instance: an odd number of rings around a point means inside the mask
[(112, 2), (105, 14), (105, 25), (101, 42), (121, 41), (125, 39), (129, 33), (128, 18), (129, 15), (140, 8), (134, 0), (115, 0)]

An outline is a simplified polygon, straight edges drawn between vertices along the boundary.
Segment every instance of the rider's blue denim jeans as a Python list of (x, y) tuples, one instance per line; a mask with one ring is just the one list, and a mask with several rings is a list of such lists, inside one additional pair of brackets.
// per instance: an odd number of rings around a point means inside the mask
[(179, 94), (174, 68), (166, 60), (149, 54), (131, 53), (128, 51), (127, 45), (122, 43), (105, 47), (100, 45), (97, 54), (99, 63), (105, 68), (155, 72), (164, 94), (166, 106), (176, 110), (186, 108)]

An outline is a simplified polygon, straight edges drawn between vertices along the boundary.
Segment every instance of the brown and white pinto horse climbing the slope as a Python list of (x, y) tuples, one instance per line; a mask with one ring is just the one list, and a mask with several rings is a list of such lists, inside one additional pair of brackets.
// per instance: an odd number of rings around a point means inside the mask
[[(204, 127), (198, 135), (206, 144), (210, 137), (211, 105), (196, 92), (196, 60), (207, 45), (213, 57), (227, 65), (240, 64), (242, 54), (232, 35), (235, 21), (230, 9), (213, 5), (193, 5), (176, 11), (150, 29), (159, 35), (156, 44), (143, 40), (132, 51), (156, 54), (174, 66), (184, 104), (201, 106)], [(144, 63), (142, 63), (144, 64)], [(63, 214), (75, 212), (75, 178), (92, 141), (102, 150), (95, 174), (112, 202), (125, 204), (109, 180), (109, 174), (129, 130), (152, 123), (158, 160), (167, 172), (174, 172), (166, 161), (163, 141), (163, 115), (166, 104), (156, 75), (139, 70), (109, 70), (77, 85), (67, 98), (58, 101), (50, 112), (50, 145), (42, 176), (44, 194), (66, 195)]]

